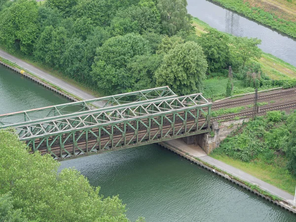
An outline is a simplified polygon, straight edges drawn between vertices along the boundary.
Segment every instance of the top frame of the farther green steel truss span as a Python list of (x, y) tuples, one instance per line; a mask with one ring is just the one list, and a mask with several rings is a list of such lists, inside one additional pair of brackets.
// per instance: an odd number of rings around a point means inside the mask
[(127, 105), (134, 102), (167, 97), (177, 97), (177, 95), (168, 86), (164, 86), (91, 100), (38, 108), (34, 110), (1, 114), (0, 129), (7, 128), (9, 126), (14, 127), (15, 124), (46, 119), (49, 117), (58, 118), (59, 116), (73, 113), (76, 115), (79, 112), (90, 111), (98, 108)]

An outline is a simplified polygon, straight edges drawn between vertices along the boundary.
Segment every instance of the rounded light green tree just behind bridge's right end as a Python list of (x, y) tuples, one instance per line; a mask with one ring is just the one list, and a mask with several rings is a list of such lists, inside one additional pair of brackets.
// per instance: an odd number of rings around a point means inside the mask
[(193, 41), (187, 41), (176, 45), (164, 56), (155, 73), (156, 85), (168, 85), (181, 94), (201, 91), (207, 68), (202, 48)]

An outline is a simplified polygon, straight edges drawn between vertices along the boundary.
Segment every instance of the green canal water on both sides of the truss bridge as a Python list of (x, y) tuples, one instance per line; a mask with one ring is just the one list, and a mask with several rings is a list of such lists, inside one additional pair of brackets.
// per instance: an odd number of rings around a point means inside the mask
[[(0, 114), (65, 103), (63, 97), (0, 67)], [(119, 194), (127, 216), (147, 222), (296, 222), (296, 217), (156, 145), (61, 162), (104, 196)]]

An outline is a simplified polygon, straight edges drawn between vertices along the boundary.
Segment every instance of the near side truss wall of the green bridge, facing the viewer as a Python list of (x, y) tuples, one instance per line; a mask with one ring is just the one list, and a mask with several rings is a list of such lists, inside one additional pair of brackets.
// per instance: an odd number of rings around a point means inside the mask
[(210, 112), (211, 105), (201, 105), (25, 141), (32, 152), (65, 159), (210, 132)]

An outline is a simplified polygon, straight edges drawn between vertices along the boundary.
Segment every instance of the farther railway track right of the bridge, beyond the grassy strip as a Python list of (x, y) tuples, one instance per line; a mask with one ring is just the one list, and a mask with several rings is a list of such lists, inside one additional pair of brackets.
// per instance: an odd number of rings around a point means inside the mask
[[(276, 97), (283, 97), (283, 96), (288, 96), (288, 95), (293, 95), (295, 94), (296, 96), (296, 88), (293, 89), (288, 89), (285, 91), (281, 92), (275, 92), (275, 93), (268, 93), (268, 94), (259, 94), (258, 101), (266, 100), (266, 99), (272, 99)], [(213, 103), (212, 109), (218, 109), (218, 108), (223, 108), (223, 107), (229, 107), (229, 106), (234, 106), (234, 105), (239, 105), (239, 104), (244, 104), (244, 103), (254, 103), (254, 96), (242, 98), (242, 99), (235, 99), (233, 101), (227, 101), (227, 102), (218, 102), (218, 103)]]

